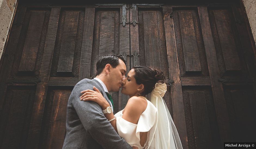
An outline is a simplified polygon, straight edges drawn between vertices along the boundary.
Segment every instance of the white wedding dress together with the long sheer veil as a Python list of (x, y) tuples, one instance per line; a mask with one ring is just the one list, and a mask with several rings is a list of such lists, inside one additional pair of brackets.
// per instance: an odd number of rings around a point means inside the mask
[[(178, 131), (163, 100), (166, 90), (166, 83), (156, 83), (151, 92), (151, 102), (145, 98), (147, 108), (139, 117), (138, 124), (123, 119), (123, 110), (115, 114), (117, 132), (131, 146), (139, 149), (182, 149)], [(139, 143), (140, 132), (148, 132), (143, 147)]]

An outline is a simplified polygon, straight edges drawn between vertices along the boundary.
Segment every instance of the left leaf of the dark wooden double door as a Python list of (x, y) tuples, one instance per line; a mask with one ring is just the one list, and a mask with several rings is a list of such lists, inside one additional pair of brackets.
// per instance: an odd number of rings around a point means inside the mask
[[(127, 55), (130, 69), (124, 5), (18, 6), (2, 61), (1, 148), (61, 148), (74, 85), (106, 54)], [(116, 111), (124, 108), (127, 96), (113, 98)]]

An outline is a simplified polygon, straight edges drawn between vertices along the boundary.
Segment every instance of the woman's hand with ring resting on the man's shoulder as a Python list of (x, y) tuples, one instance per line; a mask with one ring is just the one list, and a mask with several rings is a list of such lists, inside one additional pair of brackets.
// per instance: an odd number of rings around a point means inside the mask
[(87, 89), (82, 91), (81, 93), (83, 95), (80, 96), (80, 100), (94, 101), (97, 104), (99, 104), (102, 109), (105, 109), (106, 107), (110, 106), (106, 99), (100, 93), (99, 89), (97, 89), (95, 86), (93, 86), (93, 89), (94, 90)]

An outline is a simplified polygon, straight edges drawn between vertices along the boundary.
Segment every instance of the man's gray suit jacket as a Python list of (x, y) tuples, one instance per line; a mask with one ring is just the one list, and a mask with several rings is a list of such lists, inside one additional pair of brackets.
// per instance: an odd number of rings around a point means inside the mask
[(81, 92), (93, 90), (93, 86), (108, 98), (102, 85), (95, 79), (79, 81), (68, 99), (65, 148), (129, 148), (132, 147), (115, 132), (102, 113), (102, 108), (93, 101), (80, 101)]

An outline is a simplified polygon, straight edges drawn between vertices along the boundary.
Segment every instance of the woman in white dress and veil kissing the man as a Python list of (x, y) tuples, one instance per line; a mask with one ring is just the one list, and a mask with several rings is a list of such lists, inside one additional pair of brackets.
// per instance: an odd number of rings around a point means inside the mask
[[(167, 79), (163, 72), (134, 66), (122, 81), (122, 93), (129, 95), (126, 107), (117, 114), (106, 113), (115, 131), (131, 146), (139, 149), (182, 149), (177, 129), (163, 100)], [(97, 88), (85, 90), (80, 100), (94, 101), (102, 109), (109, 103)], [(151, 93), (151, 102), (145, 97)], [(92, 97), (93, 95), (93, 97)]]

